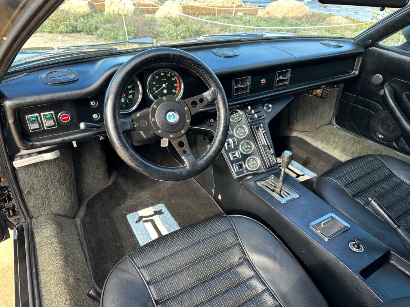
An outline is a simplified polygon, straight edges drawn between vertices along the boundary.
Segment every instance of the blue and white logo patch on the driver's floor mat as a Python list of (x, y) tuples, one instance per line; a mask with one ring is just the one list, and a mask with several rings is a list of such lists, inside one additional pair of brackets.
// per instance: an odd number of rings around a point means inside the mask
[(130, 213), (127, 219), (141, 246), (180, 228), (163, 203)]

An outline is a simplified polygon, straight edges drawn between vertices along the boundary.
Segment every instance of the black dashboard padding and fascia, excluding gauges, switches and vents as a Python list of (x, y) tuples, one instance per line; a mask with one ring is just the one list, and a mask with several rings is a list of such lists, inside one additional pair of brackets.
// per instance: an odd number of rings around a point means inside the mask
[[(204, 61), (214, 71), (223, 85), (230, 104), (241, 104), (273, 95), (306, 90), (314, 86), (342, 82), (358, 74), (364, 53), (362, 47), (355, 45), (351, 40), (338, 40), (342, 43), (341, 47), (330, 47), (321, 41), (323, 38), (292, 37), (219, 45), (219, 47), (235, 50), (239, 55), (234, 57), (221, 57), (212, 53), (211, 50), (218, 47), (216, 45), (200, 45), (184, 49)], [(91, 122), (91, 116), (94, 116), (96, 110), (89, 108), (90, 101), (98, 99), (100, 107), (103, 105), (105, 90), (113, 75), (133, 55), (73, 61), (23, 74), (20, 72), (20, 77), (7, 76), (0, 84), (0, 97), (3, 102), (5, 133), (10, 139), (9, 154), (16, 156), (61, 142), (104, 135), (105, 129), (83, 131), (78, 128), (78, 123), (87, 121), (88, 117), (90, 117), (88, 121)], [(181, 75), (187, 91), (182, 95), (182, 99), (185, 96), (193, 96), (195, 91), (198, 95), (206, 89), (205, 84), (185, 68), (177, 67), (172, 63), (157, 64), (136, 76), (144, 89), (141, 108), (149, 107), (152, 103), (146, 93), (148, 76), (156, 69), (162, 68), (172, 68)], [(41, 81), (41, 75), (50, 70), (75, 71), (78, 80), (66, 84), (45, 84)], [(278, 83), (277, 79), (282, 77), (287, 79), (287, 83)], [(233, 89), (235, 79), (240, 78), (245, 78), (240, 82), (243, 80), (248, 82), (247, 89), (235, 95)], [(68, 125), (58, 123), (56, 118), (57, 129), (41, 129), (41, 133), (28, 129), (25, 119), (29, 115), (41, 116), (40, 114), (52, 111), (57, 117), (61, 112), (68, 110), (73, 114), (73, 120), (70, 120)], [(214, 106), (203, 108), (203, 112), (212, 110)], [(103, 119), (101, 112), (102, 109), (98, 111), (100, 122)]]

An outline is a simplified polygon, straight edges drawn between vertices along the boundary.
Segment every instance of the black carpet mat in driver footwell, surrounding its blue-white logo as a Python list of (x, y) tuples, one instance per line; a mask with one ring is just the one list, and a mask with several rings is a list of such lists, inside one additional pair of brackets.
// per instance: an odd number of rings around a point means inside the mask
[[(139, 149), (144, 158), (164, 166), (178, 166), (159, 143)], [(94, 286), (103, 288), (111, 269), (139, 247), (127, 214), (164, 204), (180, 228), (223, 212), (212, 197), (193, 179), (176, 182), (146, 178), (118, 157), (109, 158), (116, 176), (113, 183), (93, 196), (82, 220), (84, 241)]]

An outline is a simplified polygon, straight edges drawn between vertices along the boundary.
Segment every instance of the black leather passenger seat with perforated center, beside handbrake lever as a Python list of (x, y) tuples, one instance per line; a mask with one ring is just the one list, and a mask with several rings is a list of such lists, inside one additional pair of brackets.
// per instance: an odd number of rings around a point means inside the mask
[(330, 205), (404, 257), (410, 257), (396, 232), (367, 204), (378, 201), (410, 230), (410, 165), (385, 155), (346, 161), (317, 178), (316, 190)]

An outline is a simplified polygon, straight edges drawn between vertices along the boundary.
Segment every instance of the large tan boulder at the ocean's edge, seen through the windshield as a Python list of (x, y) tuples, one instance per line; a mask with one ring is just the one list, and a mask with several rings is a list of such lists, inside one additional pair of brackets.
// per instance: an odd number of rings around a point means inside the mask
[(278, 0), (260, 10), (257, 16), (276, 18), (306, 18), (310, 15), (310, 9), (296, 0)]

